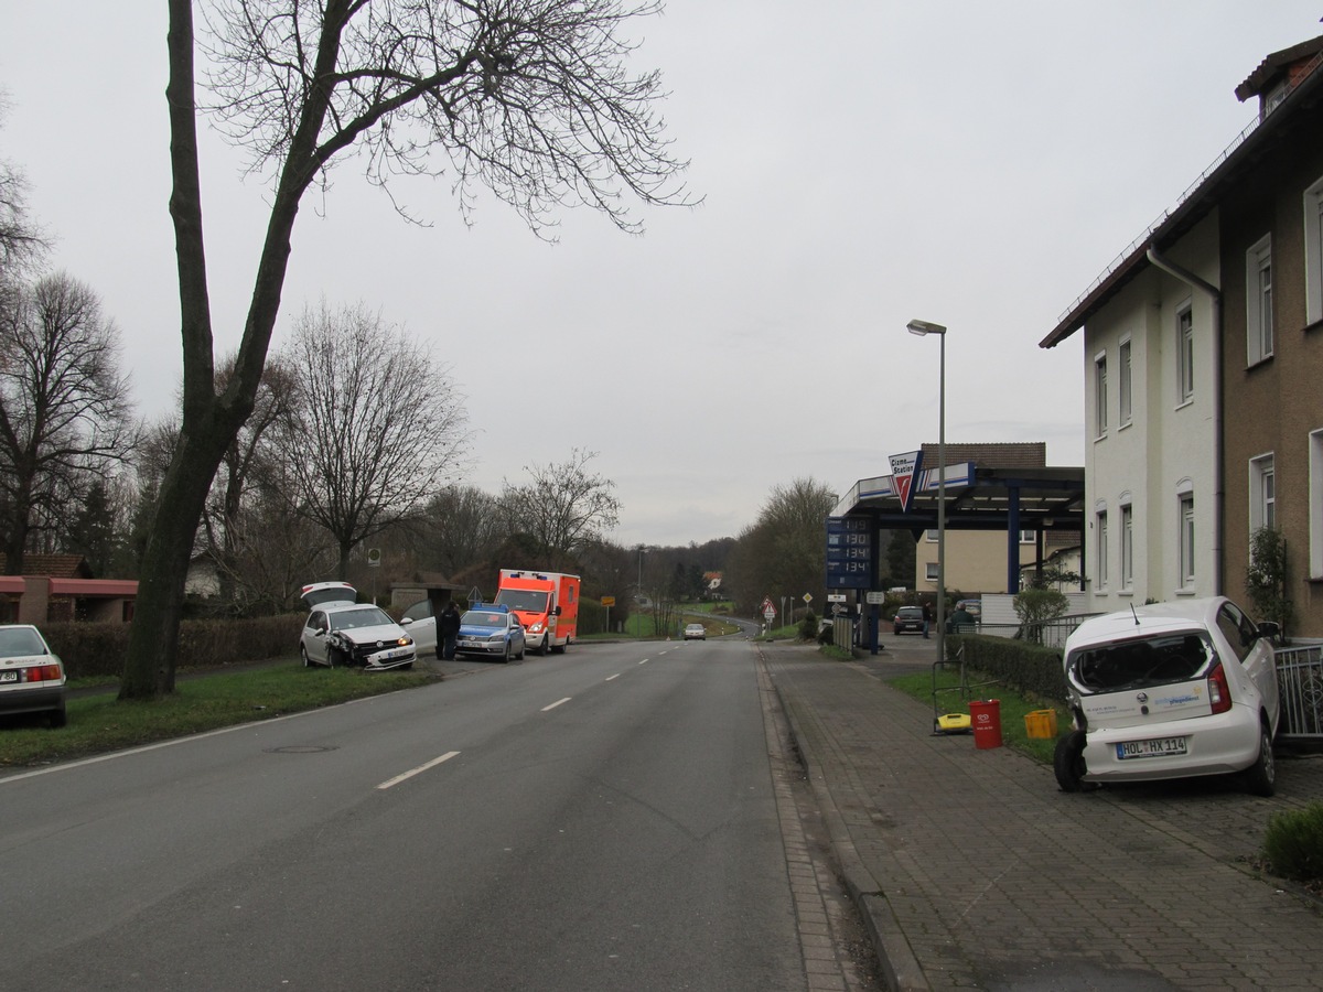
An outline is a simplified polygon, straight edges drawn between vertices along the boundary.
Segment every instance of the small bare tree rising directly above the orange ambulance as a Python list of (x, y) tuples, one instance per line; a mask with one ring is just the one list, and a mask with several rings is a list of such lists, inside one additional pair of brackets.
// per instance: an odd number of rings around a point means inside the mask
[(595, 451), (574, 448), (561, 464), (525, 466), (532, 481), (501, 487), (511, 529), (528, 533), (540, 549), (542, 561), (536, 565), (564, 567), (574, 552), (619, 522), (620, 501), (611, 495), (615, 483), (589, 474), (594, 458)]

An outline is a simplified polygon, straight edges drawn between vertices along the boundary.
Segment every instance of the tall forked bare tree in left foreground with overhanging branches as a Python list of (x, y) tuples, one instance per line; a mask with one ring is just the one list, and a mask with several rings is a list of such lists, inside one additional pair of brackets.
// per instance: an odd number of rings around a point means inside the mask
[[(271, 177), (271, 212), (234, 377), (217, 390), (197, 156), (193, 0), (169, 1), (171, 217), (184, 345), (180, 444), (143, 554), (122, 698), (172, 692), (193, 532), (253, 410), (303, 194), (343, 153), (370, 180), (452, 172), (467, 212), (486, 185), (534, 230), (586, 204), (685, 202), (656, 73), (631, 75), (623, 25), (659, 0), (216, 0), (216, 112)], [(433, 167), (431, 152), (439, 164)], [(626, 197), (630, 198), (626, 198)], [(467, 213), (466, 213), (467, 216)]]

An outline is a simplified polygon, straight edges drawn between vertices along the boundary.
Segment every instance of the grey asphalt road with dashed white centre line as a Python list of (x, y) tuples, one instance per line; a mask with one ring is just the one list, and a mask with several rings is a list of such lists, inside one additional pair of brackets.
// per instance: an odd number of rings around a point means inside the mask
[(9, 775), (0, 852), (5, 989), (807, 987), (742, 641)]

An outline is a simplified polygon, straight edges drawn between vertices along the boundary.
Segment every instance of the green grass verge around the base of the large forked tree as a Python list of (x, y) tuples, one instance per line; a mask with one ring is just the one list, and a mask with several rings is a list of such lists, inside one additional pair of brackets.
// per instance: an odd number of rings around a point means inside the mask
[(427, 672), (303, 668), (288, 663), (180, 681), (175, 694), (119, 702), (116, 689), (67, 701), (58, 730), (15, 720), (0, 726), (0, 768), (45, 765), (165, 741), (254, 720), (331, 706), (435, 681)]

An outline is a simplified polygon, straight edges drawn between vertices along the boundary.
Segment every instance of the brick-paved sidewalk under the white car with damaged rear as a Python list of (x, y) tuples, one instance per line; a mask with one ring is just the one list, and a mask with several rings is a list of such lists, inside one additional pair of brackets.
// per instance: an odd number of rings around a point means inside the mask
[(759, 645), (831, 843), (900, 989), (1316, 989), (1323, 917), (1256, 877), (1269, 816), (1323, 799), (1323, 757), (1278, 754), (1273, 799), (1228, 780), (1068, 795), (881, 679), (931, 641), (856, 663)]

